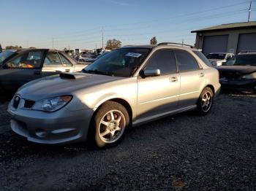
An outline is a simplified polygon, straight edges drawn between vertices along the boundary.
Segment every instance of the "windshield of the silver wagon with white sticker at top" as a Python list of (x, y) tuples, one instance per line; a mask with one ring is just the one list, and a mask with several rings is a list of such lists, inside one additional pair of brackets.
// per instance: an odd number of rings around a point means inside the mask
[(121, 48), (102, 56), (83, 69), (85, 73), (130, 77), (143, 63), (150, 49)]

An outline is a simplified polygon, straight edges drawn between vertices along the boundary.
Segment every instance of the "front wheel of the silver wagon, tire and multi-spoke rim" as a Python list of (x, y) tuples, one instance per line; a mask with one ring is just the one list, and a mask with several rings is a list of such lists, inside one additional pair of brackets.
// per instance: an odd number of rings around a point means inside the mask
[(100, 106), (92, 122), (94, 144), (99, 148), (113, 147), (118, 144), (129, 127), (127, 109), (114, 101), (107, 101)]

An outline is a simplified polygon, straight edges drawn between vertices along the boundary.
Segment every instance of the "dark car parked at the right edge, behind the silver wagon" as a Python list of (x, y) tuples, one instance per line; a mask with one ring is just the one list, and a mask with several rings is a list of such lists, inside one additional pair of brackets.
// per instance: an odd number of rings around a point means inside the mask
[(256, 52), (236, 55), (217, 69), (223, 89), (256, 93)]

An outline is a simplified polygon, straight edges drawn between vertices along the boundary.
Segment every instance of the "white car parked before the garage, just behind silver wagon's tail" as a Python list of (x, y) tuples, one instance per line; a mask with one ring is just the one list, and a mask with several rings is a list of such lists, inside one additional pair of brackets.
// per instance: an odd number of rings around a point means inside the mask
[(228, 52), (212, 52), (206, 56), (211, 62), (212, 66), (222, 66), (222, 63), (228, 61), (230, 58), (233, 58), (233, 53)]

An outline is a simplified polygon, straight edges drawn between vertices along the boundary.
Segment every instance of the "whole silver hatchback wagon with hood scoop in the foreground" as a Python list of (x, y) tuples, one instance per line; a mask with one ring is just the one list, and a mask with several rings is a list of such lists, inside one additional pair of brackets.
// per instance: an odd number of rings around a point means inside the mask
[(210, 112), (219, 73), (198, 50), (172, 44), (113, 50), (78, 73), (20, 87), (10, 101), (11, 128), (39, 144), (92, 140), (110, 147), (127, 128), (196, 109)]

